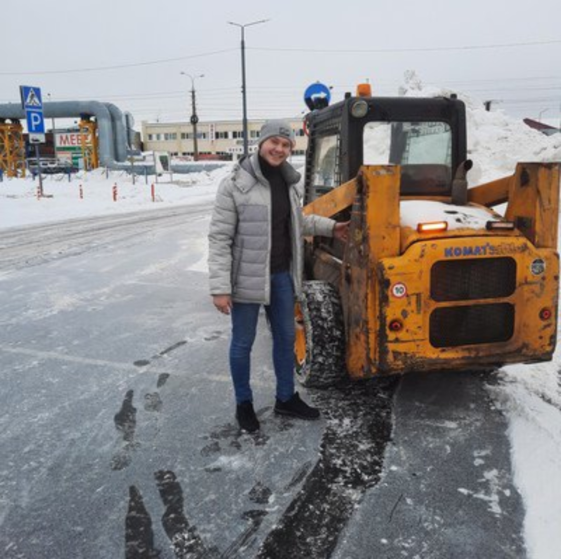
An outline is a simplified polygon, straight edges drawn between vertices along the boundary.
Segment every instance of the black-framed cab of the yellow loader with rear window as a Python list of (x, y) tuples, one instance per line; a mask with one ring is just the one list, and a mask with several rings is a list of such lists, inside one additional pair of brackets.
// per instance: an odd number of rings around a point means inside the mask
[(455, 98), (350, 97), (306, 117), (307, 204), (361, 165), (401, 165), (404, 197), (449, 197), (466, 160), (465, 105)]

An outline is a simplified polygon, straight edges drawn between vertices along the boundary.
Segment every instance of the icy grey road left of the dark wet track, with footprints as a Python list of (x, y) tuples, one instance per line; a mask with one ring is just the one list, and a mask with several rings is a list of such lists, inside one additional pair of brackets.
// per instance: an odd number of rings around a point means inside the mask
[[(3, 232), (0, 555), (253, 556), (324, 422), (233, 423), (229, 322), (207, 294), (208, 207)], [(189, 553), (194, 555), (189, 555)]]

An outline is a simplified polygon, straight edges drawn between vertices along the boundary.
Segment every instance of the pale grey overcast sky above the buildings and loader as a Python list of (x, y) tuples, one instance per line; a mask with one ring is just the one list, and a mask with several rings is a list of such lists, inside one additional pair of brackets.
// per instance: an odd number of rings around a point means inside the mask
[[(184, 120), (195, 80), (201, 121), (240, 119), (246, 24), (250, 118), (297, 117), (306, 86), (333, 99), (366, 79), (396, 95), (403, 74), (496, 101), (556, 126), (561, 106), (559, 0), (2, 0), (0, 103), (19, 85), (52, 100), (99, 100), (137, 122)], [(325, 6), (323, 8), (322, 6)]]

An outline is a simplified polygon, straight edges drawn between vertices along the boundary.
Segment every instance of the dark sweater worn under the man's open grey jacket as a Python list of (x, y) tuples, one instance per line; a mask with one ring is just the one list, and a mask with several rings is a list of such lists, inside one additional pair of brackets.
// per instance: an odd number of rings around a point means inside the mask
[(272, 274), (290, 268), (290, 200), (288, 187), (280, 167), (269, 165), (259, 156), (261, 173), (271, 186), (271, 253), (270, 269)]

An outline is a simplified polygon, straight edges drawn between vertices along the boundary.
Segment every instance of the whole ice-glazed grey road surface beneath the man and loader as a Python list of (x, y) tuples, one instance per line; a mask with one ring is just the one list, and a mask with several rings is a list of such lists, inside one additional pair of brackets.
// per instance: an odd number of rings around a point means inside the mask
[[(0, 556), (525, 557), (503, 415), (475, 373), (308, 393), (241, 435), (206, 206), (4, 230)], [(388, 442), (390, 441), (390, 442)]]

